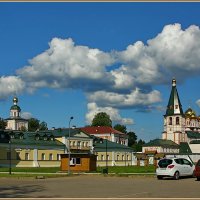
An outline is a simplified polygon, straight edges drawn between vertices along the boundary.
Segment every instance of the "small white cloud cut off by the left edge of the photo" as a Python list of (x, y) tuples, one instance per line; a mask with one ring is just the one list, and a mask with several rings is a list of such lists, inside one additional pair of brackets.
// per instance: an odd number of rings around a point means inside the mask
[(19, 94), (25, 89), (25, 83), (17, 76), (0, 77), (0, 100)]

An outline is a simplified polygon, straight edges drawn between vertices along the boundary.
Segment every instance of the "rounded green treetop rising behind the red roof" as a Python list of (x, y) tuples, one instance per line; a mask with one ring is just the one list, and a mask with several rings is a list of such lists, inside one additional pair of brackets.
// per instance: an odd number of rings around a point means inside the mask
[(92, 126), (110, 126), (112, 127), (112, 121), (110, 119), (110, 116), (105, 112), (97, 113), (93, 120), (92, 120)]

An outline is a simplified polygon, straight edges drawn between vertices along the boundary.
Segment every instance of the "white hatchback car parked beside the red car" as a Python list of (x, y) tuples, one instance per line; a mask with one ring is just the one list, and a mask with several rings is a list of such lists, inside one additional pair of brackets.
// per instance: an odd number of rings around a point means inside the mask
[(195, 165), (185, 158), (163, 158), (158, 162), (156, 175), (158, 179), (172, 177), (178, 180), (180, 176), (193, 176)]

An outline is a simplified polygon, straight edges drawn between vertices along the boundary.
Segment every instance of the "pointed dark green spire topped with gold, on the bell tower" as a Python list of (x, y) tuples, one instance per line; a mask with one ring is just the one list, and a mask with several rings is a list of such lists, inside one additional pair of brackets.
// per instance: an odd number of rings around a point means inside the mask
[(178, 91), (176, 89), (176, 79), (172, 79), (172, 90), (167, 105), (166, 115), (183, 115), (182, 105), (179, 99)]

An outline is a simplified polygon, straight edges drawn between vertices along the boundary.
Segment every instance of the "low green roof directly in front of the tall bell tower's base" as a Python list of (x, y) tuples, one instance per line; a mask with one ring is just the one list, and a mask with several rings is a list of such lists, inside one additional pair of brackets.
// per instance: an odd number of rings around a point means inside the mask
[(161, 147), (170, 147), (170, 148), (178, 148), (179, 145), (173, 142), (172, 140), (163, 140), (163, 139), (155, 139), (143, 145), (146, 146), (161, 146)]

